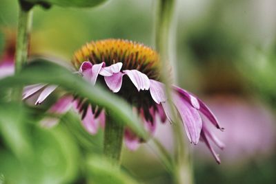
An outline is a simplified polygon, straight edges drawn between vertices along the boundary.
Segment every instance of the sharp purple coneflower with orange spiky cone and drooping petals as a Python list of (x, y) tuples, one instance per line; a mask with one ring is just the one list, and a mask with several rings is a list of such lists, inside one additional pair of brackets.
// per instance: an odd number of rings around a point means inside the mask
[[(91, 85), (99, 82), (127, 100), (144, 120), (144, 126), (150, 133), (155, 131), (157, 116), (161, 117), (162, 122), (166, 122), (166, 119), (172, 122), (165, 87), (159, 82), (159, 55), (149, 47), (119, 39), (91, 42), (75, 53), (72, 64), (79, 71), (79, 75)], [(24, 89), (23, 98), (39, 92), (36, 104), (41, 104), (56, 88), (57, 86), (45, 84), (32, 85)], [(81, 113), (86, 130), (91, 134), (97, 133), (99, 126), (104, 125), (104, 110), (97, 104), (86, 102), (85, 98), (75, 99), (72, 95), (62, 97), (49, 111), (64, 113), (68, 106), (73, 105)], [(201, 119), (201, 115), (206, 116), (210, 123), (222, 130), (210, 109), (195, 95), (175, 86), (172, 86), (172, 102), (190, 142), (197, 144), (199, 139), (204, 141), (220, 163), (210, 141), (221, 149), (224, 146), (208, 131), (206, 122)], [(141, 141), (143, 140), (130, 129), (125, 129), (125, 142), (130, 150), (135, 150)]]

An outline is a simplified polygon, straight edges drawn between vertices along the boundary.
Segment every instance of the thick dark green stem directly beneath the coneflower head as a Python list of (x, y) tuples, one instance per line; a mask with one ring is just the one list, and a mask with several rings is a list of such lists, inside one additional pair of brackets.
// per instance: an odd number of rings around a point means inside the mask
[(124, 137), (124, 125), (116, 122), (107, 115), (106, 127), (104, 130), (103, 154), (118, 166), (121, 164), (121, 148)]

